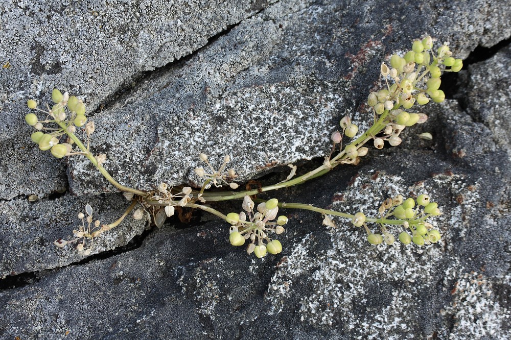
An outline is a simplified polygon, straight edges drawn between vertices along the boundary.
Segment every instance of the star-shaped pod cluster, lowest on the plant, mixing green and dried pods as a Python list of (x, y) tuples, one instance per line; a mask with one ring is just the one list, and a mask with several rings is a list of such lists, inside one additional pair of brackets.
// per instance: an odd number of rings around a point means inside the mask
[[(269, 232), (282, 234), (288, 218), (284, 215), (278, 216), (276, 222), (270, 222), (275, 219), (278, 212), (277, 199), (271, 199), (260, 203), (257, 206), (257, 212), (254, 213), (254, 202), (249, 196), (243, 200), (243, 210), (240, 213), (231, 212), (227, 214), (226, 221), (230, 223), (229, 241), (233, 246), (243, 246), (245, 240), (250, 239), (250, 245), (247, 253), (254, 253), (255, 256), (262, 258), (266, 253), (278, 254), (282, 251), (281, 242), (268, 237)], [(248, 216), (247, 216), (248, 215)], [(248, 220), (247, 220), (248, 217)]]

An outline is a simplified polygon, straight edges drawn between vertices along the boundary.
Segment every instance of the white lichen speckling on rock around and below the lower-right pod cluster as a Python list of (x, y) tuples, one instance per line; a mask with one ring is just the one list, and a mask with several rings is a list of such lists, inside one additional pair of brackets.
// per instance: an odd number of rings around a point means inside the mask
[[(425, 187), (431, 189), (425, 192)], [(467, 209), (470, 209), (468, 206), (478, 200), (477, 185), (469, 186), (459, 176), (443, 176), (441, 179), (406, 186), (400, 177), (375, 173), (358, 177), (345, 191), (336, 194), (333, 207), (342, 211), (360, 210), (367, 216), (376, 216), (379, 205), (385, 199), (382, 195), (392, 197), (398, 193), (427, 193), (434, 199), (437, 190), (445, 191), (446, 188), (454, 197), (461, 194), (466, 197), (467, 206), (463, 209), (467, 213)], [(448, 248), (446, 242), (449, 237), (445, 237), (445, 234), (449, 233), (453, 220), (461, 220), (457, 209), (445, 210), (443, 213), (431, 221), (440, 229), (443, 237), (437, 244), (423, 247), (413, 244), (405, 246), (399, 241), (391, 246), (371, 246), (366, 241), (363, 228), (357, 229), (350, 221), (335, 217), (337, 228), (328, 229), (332, 248), (326, 250), (324, 256), (311, 261), (311, 258), (317, 257), (309, 254), (309, 241), (305, 238), (283, 261), (267, 292), (267, 298), (273, 306), (271, 313), (285, 310), (283, 301), (286, 301), (289, 287), (298, 284), (298, 278), (303, 280), (308, 277), (308, 293), (300, 301), (301, 321), (320, 327), (341, 327), (353, 338), (415, 337), (417, 329), (421, 327), (416, 312), (428, 304), (428, 296), (424, 293), (431, 292), (432, 287), (437, 286), (435, 277), (438, 277), (438, 268)], [(369, 228), (379, 232), (375, 225), (369, 225)], [(402, 230), (402, 226), (389, 229), (394, 235)], [(443, 294), (451, 289), (449, 279), (452, 280), (462, 271), (459, 262), (457, 258), (452, 260), (446, 281), (439, 288)], [(317, 269), (311, 274), (313, 268)], [(467, 293), (472, 294), (470, 303), (479, 309), (489, 305), (490, 302), (486, 301), (489, 299), (488, 289), (480, 287), (472, 291)], [(486, 320), (492, 320), (498, 311), (502, 311), (495, 304), (493, 306), (485, 314)], [(458, 310), (455, 306), (452, 308), (450, 312), (456, 314)], [(465, 316), (467, 312), (459, 312), (460, 320), (474, 321)]]

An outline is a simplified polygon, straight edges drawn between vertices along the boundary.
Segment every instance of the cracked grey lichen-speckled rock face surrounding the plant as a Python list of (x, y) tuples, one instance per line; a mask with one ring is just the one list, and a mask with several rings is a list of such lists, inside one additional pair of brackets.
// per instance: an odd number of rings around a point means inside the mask
[[(511, 337), (510, 14), (491, 1), (7, 6), (0, 337)], [(288, 209), (284, 250), (263, 260), (230, 246), (226, 224), (201, 213), (185, 229), (126, 220), (89, 257), (53, 246), (86, 204), (110, 222), (129, 203), (85, 159), (34, 147), (27, 99), (45, 103), (54, 87), (83, 96), (91, 147), (122, 184), (197, 184), (199, 152), (230, 155), (246, 181), (301, 160), (319, 165), (344, 114), (367, 128), (363, 103), (380, 86), (381, 61), (425, 33), (467, 65), (444, 78), (448, 100), (425, 107), (428, 122), (358, 166), (270, 195), (376, 214), (388, 196), (426, 192), (442, 207), (438, 244), (370, 246), (347, 221), (326, 228), (320, 215)]]

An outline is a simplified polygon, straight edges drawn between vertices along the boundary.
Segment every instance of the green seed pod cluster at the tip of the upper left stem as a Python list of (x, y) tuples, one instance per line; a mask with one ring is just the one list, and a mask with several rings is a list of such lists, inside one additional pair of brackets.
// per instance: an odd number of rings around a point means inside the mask
[[(60, 138), (66, 134), (73, 134), (77, 127), (85, 126), (87, 138), (94, 132), (94, 123), (86, 123), (85, 105), (76, 96), (69, 96), (67, 92), (62, 94), (58, 89), (52, 91), (52, 101), (55, 105), (51, 109), (48, 107), (47, 111), (39, 109), (37, 103), (32, 99), (27, 102), (30, 109), (35, 109), (46, 115), (43, 120), (39, 120), (35, 113), (25, 116), (25, 122), (37, 130), (32, 133), (30, 138), (39, 145), (39, 149), (51, 150), (52, 155), (57, 158), (80, 154), (80, 152), (73, 151), (74, 141), (71, 138), (67, 138), (64, 142), (61, 142)], [(71, 112), (70, 115), (66, 114), (66, 107)], [(45, 127), (44, 124), (48, 123), (56, 123), (59, 128)], [(100, 155), (98, 161), (104, 161), (102, 158), (104, 158), (103, 155)]]

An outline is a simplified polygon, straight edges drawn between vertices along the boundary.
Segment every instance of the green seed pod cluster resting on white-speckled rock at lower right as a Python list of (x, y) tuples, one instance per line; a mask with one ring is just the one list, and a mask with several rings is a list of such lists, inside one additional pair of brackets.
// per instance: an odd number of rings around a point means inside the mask
[(440, 239), (439, 231), (433, 229), (433, 225), (426, 222), (429, 217), (440, 214), (438, 204), (430, 202), (428, 195), (419, 195), (416, 200), (411, 197), (404, 200), (401, 195), (386, 199), (378, 212), (380, 218), (376, 222), (380, 225), (383, 235), (375, 234), (369, 230), (365, 223), (366, 217), (362, 212), (357, 212), (352, 219), (354, 226), (364, 226), (367, 231), (367, 241), (372, 245), (379, 245), (383, 241), (388, 245), (393, 244), (394, 236), (385, 227), (385, 221), (391, 216), (396, 217), (403, 227), (409, 229), (412, 234), (410, 236), (406, 231), (399, 234), (399, 240), (405, 245), (413, 242), (417, 246), (423, 246), (424, 244), (436, 243)]

